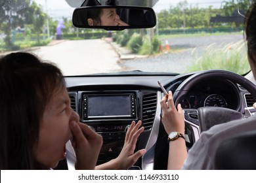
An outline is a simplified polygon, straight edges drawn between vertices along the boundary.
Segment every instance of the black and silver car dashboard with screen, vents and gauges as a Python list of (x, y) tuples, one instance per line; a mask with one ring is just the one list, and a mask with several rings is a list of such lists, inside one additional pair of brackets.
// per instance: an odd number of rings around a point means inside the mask
[[(175, 92), (190, 75), (193, 74), (66, 76), (72, 108), (79, 114), (82, 123), (103, 137), (98, 165), (119, 155), (127, 127), (132, 121), (142, 120), (144, 132), (137, 141), (135, 151), (145, 148), (146, 154), (131, 169), (165, 169), (168, 145), (167, 142), (163, 145), (160, 142), (162, 139), (167, 141), (167, 134), (161, 125), (160, 101), (163, 92), (158, 81), (167, 91)], [(244, 107), (252, 106), (253, 101), (251, 94), (242, 86), (216, 78), (193, 86), (181, 104), (187, 109), (218, 106), (244, 112)]]

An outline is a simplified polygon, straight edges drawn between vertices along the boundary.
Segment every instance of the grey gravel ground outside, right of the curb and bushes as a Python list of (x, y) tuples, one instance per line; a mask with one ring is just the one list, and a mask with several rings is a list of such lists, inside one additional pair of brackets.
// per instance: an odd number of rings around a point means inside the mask
[[(202, 37), (177, 37), (167, 39), (170, 53), (121, 61), (120, 66), (127, 70), (149, 72), (185, 73), (186, 69), (205, 52), (210, 44), (226, 45), (241, 41), (242, 33), (238, 35), (211, 35)], [(163, 40), (163, 45), (165, 40)], [(177, 50), (177, 51), (173, 51)]]

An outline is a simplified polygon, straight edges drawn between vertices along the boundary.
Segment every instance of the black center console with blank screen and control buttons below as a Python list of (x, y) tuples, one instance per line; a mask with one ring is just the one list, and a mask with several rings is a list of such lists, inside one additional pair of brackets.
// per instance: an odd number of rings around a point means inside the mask
[(127, 127), (139, 119), (138, 91), (79, 92), (81, 121), (102, 135), (98, 164), (116, 158), (125, 141)]

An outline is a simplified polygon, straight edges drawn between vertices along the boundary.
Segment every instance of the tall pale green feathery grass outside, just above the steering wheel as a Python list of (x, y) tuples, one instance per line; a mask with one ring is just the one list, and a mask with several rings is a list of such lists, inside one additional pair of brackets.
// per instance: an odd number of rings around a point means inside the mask
[[(193, 56), (194, 52), (192, 52)], [(250, 70), (247, 60), (247, 48), (245, 41), (238, 41), (230, 44), (211, 44), (188, 72), (202, 71), (209, 69), (223, 69), (232, 71), (240, 75), (247, 73)]]

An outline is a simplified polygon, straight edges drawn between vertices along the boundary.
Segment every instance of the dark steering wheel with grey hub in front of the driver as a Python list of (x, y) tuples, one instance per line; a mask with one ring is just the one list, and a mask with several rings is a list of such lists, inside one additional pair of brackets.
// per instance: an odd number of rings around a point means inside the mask
[[(202, 82), (203, 80), (219, 78), (222, 80), (230, 80), (236, 84), (244, 86), (248, 92), (253, 95), (256, 99), (256, 86), (243, 76), (236, 73), (224, 70), (209, 70), (196, 73), (184, 80), (175, 93), (173, 93), (173, 100), (175, 101), (175, 106), (181, 103), (184, 96), (190, 91), (192, 86)], [(200, 133), (205, 131), (216, 124), (221, 124), (224, 122), (229, 122), (232, 120), (237, 120), (244, 118), (241, 112), (223, 107), (201, 107), (198, 109), (184, 109), (184, 118), (188, 126), (192, 126), (194, 129), (198, 129), (198, 133), (194, 134), (196, 140), (200, 137)], [(195, 133), (195, 130), (193, 130)]]

